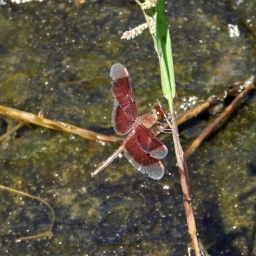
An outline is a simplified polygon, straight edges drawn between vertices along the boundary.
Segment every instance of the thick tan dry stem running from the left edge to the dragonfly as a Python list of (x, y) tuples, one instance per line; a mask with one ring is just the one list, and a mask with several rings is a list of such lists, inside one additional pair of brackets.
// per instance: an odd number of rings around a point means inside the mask
[(112, 142), (122, 141), (122, 138), (118, 138), (116, 136), (106, 136), (103, 134), (99, 134), (97, 132), (88, 131), (86, 129), (76, 127), (74, 125), (70, 125), (64, 122), (49, 120), (41, 116), (34, 115), (32, 113), (20, 111), (18, 109), (8, 108), (6, 106), (0, 105), (0, 115), (9, 116), (15, 119), (22, 120), (23, 122), (26, 122), (26, 123), (40, 125), (43, 127), (57, 130), (57, 131), (64, 131), (71, 134), (76, 134), (88, 140), (100, 140), (100, 141), (112, 141)]

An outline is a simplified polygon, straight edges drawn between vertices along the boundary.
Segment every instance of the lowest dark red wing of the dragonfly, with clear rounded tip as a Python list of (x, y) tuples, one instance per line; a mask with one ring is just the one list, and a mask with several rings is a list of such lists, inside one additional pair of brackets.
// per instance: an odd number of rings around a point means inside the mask
[(163, 177), (163, 163), (159, 159), (146, 154), (141, 149), (135, 134), (132, 134), (132, 136), (125, 142), (124, 152), (132, 166), (141, 173), (147, 174), (148, 177), (156, 180)]

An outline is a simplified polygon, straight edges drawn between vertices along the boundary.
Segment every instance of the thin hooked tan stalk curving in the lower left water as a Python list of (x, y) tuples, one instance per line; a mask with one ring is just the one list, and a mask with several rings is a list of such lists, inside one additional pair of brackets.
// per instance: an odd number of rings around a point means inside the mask
[(13, 192), (13, 193), (17, 193), (19, 195), (28, 196), (30, 198), (36, 199), (36, 200), (42, 202), (43, 204), (47, 205), (47, 207), (49, 207), (49, 209), (51, 210), (51, 213), (52, 213), (52, 218), (51, 218), (52, 221), (51, 221), (51, 225), (49, 227), (49, 230), (47, 230), (46, 232), (37, 234), (37, 235), (33, 235), (33, 236), (20, 237), (18, 239), (15, 239), (15, 243), (18, 243), (18, 242), (20, 242), (22, 240), (38, 239), (38, 238), (46, 237), (46, 236), (51, 238), (52, 227), (53, 227), (53, 224), (54, 224), (54, 221), (55, 221), (55, 213), (54, 213), (51, 205), (49, 205), (47, 202), (45, 202), (45, 200), (42, 200), (41, 198), (38, 198), (37, 196), (29, 195), (28, 193), (24, 193), (24, 192), (16, 190), (16, 189), (8, 188), (8, 187), (1, 186), (1, 185), (0, 185), (0, 189), (5, 189), (7, 191), (10, 191), (10, 192)]

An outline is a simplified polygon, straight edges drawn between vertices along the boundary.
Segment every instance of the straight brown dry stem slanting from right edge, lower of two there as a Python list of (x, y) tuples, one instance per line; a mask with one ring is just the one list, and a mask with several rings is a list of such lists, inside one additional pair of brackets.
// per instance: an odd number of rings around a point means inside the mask
[(252, 91), (255, 87), (253, 85), (250, 85), (248, 87), (246, 87), (243, 92), (239, 93), (239, 95), (237, 95), (237, 97), (231, 102), (231, 104), (229, 104), (227, 106), (227, 108), (224, 109), (224, 111), (221, 113), (220, 116), (218, 116), (218, 118), (216, 118), (206, 129), (204, 129), (204, 131), (202, 132), (202, 134), (200, 134), (200, 136), (198, 136), (198, 138), (196, 138), (196, 140), (192, 143), (192, 145), (188, 148), (188, 150), (186, 151), (186, 153), (184, 154), (184, 159), (188, 159), (189, 156), (191, 156), (193, 154), (193, 152), (195, 152), (195, 150), (200, 146), (200, 144), (202, 143), (202, 141), (205, 139), (205, 137), (218, 125), (220, 124), (220, 122), (227, 116), (230, 114), (230, 112), (236, 107), (236, 105), (239, 103), (239, 101), (241, 99), (243, 99), (243, 97), (245, 95), (247, 95), (250, 91)]

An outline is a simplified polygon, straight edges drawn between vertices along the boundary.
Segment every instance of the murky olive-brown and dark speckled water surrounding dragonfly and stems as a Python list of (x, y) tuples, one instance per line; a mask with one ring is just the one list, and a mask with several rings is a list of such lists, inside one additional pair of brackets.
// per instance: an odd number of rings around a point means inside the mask
[[(168, 1), (166, 10), (179, 111), (255, 74), (255, 1)], [(0, 104), (43, 109), (46, 118), (108, 133), (109, 70), (122, 63), (139, 113), (150, 112), (163, 100), (152, 39), (145, 31), (120, 40), (143, 22), (134, 1), (87, 1), (81, 8), (72, 1), (0, 1)], [(188, 161), (198, 234), (211, 255), (256, 253), (255, 109), (252, 93)], [(1, 133), (12, 123), (1, 116)], [(197, 124), (182, 131), (184, 150)], [(92, 178), (118, 145), (34, 125), (2, 142), (1, 185), (44, 198), (56, 222), (52, 239), (14, 243), (45, 231), (51, 215), (35, 200), (1, 191), (0, 255), (188, 255), (172, 138), (161, 139), (169, 154), (158, 181), (125, 157)]]

